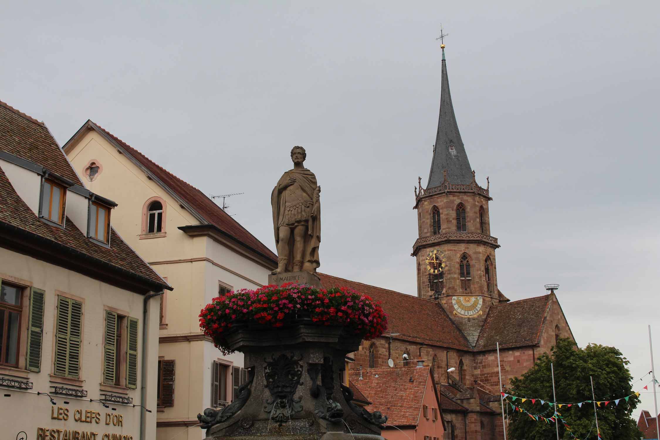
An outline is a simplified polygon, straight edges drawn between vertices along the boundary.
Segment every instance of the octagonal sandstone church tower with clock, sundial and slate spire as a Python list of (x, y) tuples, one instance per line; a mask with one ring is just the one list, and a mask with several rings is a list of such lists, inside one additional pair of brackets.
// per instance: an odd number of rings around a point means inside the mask
[(426, 188), (415, 193), (418, 239), (413, 245), (417, 295), (434, 299), (477, 342), (490, 305), (500, 302), (490, 235), (489, 185), (480, 187), (465, 152), (451, 104), (442, 44), (440, 119)]

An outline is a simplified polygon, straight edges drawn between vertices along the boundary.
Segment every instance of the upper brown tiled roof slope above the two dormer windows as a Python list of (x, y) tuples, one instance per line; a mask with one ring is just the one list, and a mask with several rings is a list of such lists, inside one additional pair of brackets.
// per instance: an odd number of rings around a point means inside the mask
[(34, 162), (81, 185), (44, 123), (0, 101), (0, 150)]

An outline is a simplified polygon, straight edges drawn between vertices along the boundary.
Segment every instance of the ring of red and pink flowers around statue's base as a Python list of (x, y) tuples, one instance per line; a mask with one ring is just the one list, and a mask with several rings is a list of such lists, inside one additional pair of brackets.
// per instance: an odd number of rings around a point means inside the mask
[(347, 334), (371, 340), (387, 330), (387, 315), (380, 303), (350, 288), (325, 290), (296, 283), (229, 292), (213, 298), (199, 313), (199, 327), (223, 354), (232, 352), (226, 339), (232, 327), (269, 329), (297, 323), (343, 327)]

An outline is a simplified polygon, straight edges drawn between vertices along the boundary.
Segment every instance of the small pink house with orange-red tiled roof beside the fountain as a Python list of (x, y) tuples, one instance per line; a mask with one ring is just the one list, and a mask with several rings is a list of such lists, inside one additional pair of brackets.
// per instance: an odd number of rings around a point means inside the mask
[(350, 381), (371, 402), (369, 412), (388, 417), (387, 440), (441, 440), (445, 427), (440, 393), (430, 367), (351, 369)]

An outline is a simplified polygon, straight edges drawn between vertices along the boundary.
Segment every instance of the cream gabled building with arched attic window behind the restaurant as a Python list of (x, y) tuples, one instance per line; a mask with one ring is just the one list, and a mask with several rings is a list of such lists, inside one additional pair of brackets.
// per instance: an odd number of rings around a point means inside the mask
[(160, 307), (157, 438), (199, 439), (197, 414), (220, 408), (247, 371), (199, 330), (199, 311), (223, 292), (267, 284), (277, 257), (211, 199), (92, 121), (63, 147), (92, 191), (116, 200), (114, 222), (174, 292)]

